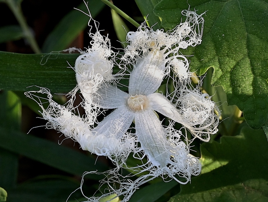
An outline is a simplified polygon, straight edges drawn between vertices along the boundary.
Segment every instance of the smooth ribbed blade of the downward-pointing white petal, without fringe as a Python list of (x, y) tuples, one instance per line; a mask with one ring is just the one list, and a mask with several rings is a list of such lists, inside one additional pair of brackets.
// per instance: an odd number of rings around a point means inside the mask
[(166, 167), (170, 160), (167, 133), (152, 110), (136, 113), (136, 135), (149, 161), (154, 166)]

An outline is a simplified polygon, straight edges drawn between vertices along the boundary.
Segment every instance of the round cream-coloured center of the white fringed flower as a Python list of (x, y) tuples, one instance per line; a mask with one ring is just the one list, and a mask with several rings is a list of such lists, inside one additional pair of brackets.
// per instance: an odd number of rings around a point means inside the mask
[(148, 108), (148, 99), (145, 95), (134, 95), (127, 99), (127, 104), (132, 111), (141, 111)]

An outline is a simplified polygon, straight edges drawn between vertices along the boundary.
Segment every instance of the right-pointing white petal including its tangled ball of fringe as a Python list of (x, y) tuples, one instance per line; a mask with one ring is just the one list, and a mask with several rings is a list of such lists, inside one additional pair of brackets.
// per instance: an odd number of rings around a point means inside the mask
[[(187, 99), (182, 98), (182, 103), (180, 104), (179, 109), (175, 108), (175, 106), (161, 94), (154, 93), (147, 97), (150, 99), (151, 108), (153, 110), (182, 124), (190, 130), (195, 137), (208, 142), (210, 140), (210, 135), (215, 134), (218, 131), (217, 125), (219, 123), (219, 116), (214, 113), (216, 106), (212, 101), (207, 99), (206, 102), (209, 102), (210, 107), (204, 111), (204, 105), (209, 105), (204, 102), (204, 96), (198, 96), (199, 94), (197, 94), (195, 97), (195, 93), (191, 91), (189, 92), (191, 99), (190, 96), (188, 96)], [(200, 99), (203, 99), (202, 102), (199, 101), (199, 97)]]

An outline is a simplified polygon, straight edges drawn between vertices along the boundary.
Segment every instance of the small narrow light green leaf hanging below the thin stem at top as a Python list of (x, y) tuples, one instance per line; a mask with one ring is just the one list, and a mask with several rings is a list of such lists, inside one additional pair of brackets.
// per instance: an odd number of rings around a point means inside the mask
[(114, 25), (117, 38), (122, 43), (123, 47), (127, 47), (126, 38), (127, 33), (129, 32), (129, 28), (115, 10), (111, 9), (111, 13), (112, 13), (112, 23)]

